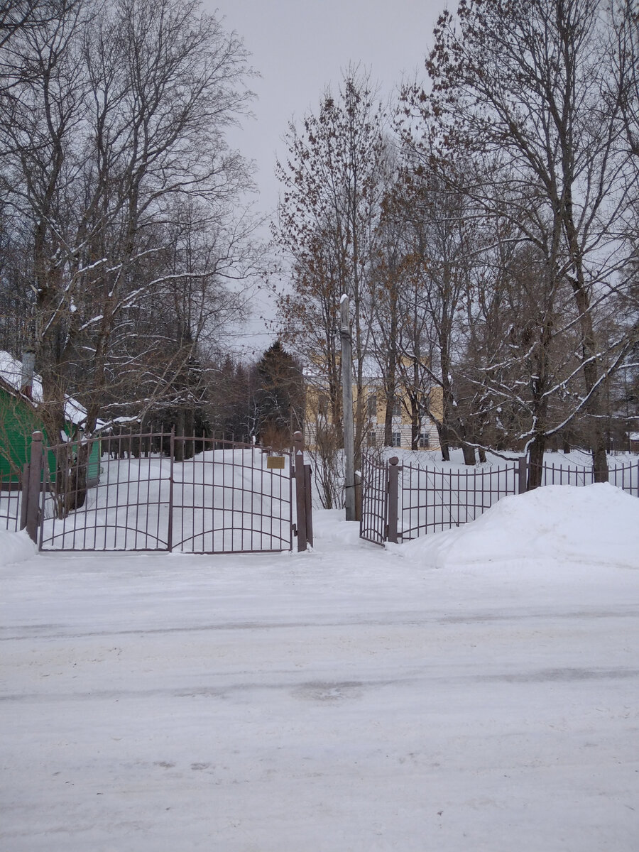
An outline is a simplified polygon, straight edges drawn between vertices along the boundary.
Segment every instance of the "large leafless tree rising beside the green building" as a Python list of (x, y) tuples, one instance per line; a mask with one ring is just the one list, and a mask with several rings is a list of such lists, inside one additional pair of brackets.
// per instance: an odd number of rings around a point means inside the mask
[[(3, 47), (18, 73), (0, 119), (3, 198), (30, 233), (49, 440), (67, 388), (90, 432), (122, 359), (150, 363), (157, 342), (123, 348), (136, 314), (179, 305), (173, 368), (193, 356), (223, 313), (214, 289), (243, 274), (250, 232), (230, 215), (248, 171), (224, 142), (250, 98), (239, 38), (193, 0), (52, 5), (55, 17)], [(208, 245), (187, 250), (204, 227)], [(189, 232), (179, 251), (176, 229)]]

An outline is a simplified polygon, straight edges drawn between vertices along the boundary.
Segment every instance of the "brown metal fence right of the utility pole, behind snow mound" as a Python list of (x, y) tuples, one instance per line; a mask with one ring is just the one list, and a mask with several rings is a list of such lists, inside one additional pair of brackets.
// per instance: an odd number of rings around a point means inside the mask
[[(436, 469), (362, 454), (360, 536), (375, 544), (408, 541), (474, 521), (492, 504), (526, 490), (527, 460), (500, 467)], [(590, 485), (590, 468), (544, 465), (542, 485)], [(639, 461), (611, 466), (608, 481), (639, 497)]]

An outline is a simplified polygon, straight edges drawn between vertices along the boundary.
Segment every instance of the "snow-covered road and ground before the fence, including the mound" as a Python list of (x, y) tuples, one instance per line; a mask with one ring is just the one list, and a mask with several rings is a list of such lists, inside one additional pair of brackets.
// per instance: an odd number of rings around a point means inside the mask
[(0, 849), (635, 852), (639, 499), (386, 550), (341, 518), (305, 554), (0, 533)]

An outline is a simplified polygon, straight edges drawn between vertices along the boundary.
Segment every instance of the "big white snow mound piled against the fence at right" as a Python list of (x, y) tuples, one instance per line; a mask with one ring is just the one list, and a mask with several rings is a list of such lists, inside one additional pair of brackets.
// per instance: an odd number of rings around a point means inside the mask
[(433, 567), (549, 559), (639, 567), (639, 499), (606, 484), (506, 497), (476, 521), (397, 547)]

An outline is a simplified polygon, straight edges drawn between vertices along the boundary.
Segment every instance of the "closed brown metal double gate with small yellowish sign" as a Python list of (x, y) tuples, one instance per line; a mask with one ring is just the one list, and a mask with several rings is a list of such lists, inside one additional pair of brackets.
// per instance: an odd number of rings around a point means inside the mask
[(45, 446), (40, 458), (41, 550), (265, 553), (292, 550), (295, 536), (298, 550), (312, 544), (301, 435), (294, 452), (278, 453), (164, 432), (112, 435)]

